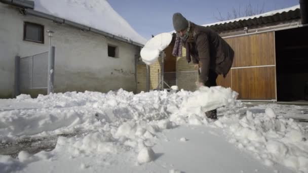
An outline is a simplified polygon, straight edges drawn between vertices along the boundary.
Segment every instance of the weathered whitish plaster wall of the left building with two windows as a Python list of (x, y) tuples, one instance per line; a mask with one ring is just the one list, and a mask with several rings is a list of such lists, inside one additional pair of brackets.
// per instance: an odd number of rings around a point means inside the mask
[[(23, 40), (24, 22), (45, 26), (45, 44)], [(136, 92), (135, 55), (139, 48), (102, 35), (50, 20), (24, 16), (0, 3), (0, 98), (12, 96), (14, 58), (48, 51), (47, 30), (54, 31), (55, 92), (99, 91), (123, 88)], [(107, 45), (118, 46), (119, 58), (108, 57)]]

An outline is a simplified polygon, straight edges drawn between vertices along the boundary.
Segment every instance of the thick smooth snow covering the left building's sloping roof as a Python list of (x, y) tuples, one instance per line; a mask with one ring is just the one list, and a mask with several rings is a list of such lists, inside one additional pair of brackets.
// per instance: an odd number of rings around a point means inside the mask
[(139, 35), (106, 0), (33, 0), (34, 10), (83, 24), (144, 45)]

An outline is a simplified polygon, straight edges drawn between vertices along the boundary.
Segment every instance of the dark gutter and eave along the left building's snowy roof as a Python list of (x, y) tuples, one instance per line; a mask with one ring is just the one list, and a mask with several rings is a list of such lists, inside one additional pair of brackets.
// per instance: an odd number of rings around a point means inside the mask
[(0, 2), (4, 3), (4, 4), (9, 4), (9, 5), (21, 7), (25, 10), (26, 15), (28, 14), (28, 15), (32, 15), (32, 16), (36, 16), (36, 17), (41, 17), (41, 18), (44, 18), (44, 19), (49, 19), (49, 20), (52, 20), (52, 21), (57, 22), (57, 23), (65, 23), (67, 25), (70, 25), (70, 26), (73, 26), (73, 27), (76, 27), (76, 28), (79, 28), (79, 29), (82, 29), (82, 30), (92, 31), (94, 33), (98, 33), (100, 35), (103, 35), (103, 36), (106, 36), (106, 37), (109, 37), (109, 38), (113, 38), (113, 39), (116, 39), (116, 40), (119, 40), (119, 41), (122, 41), (122, 42), (126, 42), (126, 43), (134, 45), (134, 46), (138, 46), (138, 47), (144, 46), (143, 44), (140, 44), (139, 42), (133, 41), (131, 39), (123, 38), (123, 37), (120, 37), (120, 36), (117, 36), (117, 35), (113, 35), (111, 33), (107, 33), (107, 32), (104, 32), (104, 31), (101, 31), (101, 30), (98, 30), (98, 29), (95, 29), (95, 28), (91, 28), (91, 27), (76, 23), (76, 22), (72, 22), (72, 21), (69, 21), (69, 20), (65, 20), (65, 19), (53, 16), (53, 15), (49, 15), (49, 14), (42, 13), (42, 12), (39, 12), (39, 11), (36, 11), (36, 10), (32, 10), (33, 8), (29, 8), (29, 6), (24, 6), (23, 4), (16, 5), (15, 3), (13, 3), (13, 0), (0, 0)]

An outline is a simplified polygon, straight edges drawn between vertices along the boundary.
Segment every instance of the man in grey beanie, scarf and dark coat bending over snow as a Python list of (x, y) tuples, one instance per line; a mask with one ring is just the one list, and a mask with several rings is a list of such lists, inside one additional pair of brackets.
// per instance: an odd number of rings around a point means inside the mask
[[(182, 14), (173, 14), (172, 20), (177, 32), (176, 41), (180, 40), (186, 48), (187, 62), (192, 60), (196, 68), (201, 67), (199, 85), (216, 86), (218, 74), (225, 77), (230, 70), (234, 51), (216, 32), (186, 20)], [(217, 119), (216, 109), (205, 114), (208, 118)]]

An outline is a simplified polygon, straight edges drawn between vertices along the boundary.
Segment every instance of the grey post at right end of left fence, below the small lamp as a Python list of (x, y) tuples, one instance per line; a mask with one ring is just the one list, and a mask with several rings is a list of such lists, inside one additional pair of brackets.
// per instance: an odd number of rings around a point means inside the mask
[(54, 74), (55, 74), (55, 47), (49, 47), (48, 53), (48, 88), (47, 94), (54, 92)]

